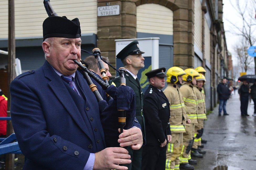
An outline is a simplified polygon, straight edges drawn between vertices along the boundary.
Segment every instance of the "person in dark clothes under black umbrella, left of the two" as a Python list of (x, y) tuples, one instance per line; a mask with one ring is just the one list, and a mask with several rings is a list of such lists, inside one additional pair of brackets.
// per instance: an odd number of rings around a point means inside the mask
[(241, 116), (249, 116), (249, 114), (247, 114), (247, 108), (249, 102), (250, 89), (246, 80), (243, 81), (243, 84), (239, 88), (238, 93), (240, 95), (241, 101)]

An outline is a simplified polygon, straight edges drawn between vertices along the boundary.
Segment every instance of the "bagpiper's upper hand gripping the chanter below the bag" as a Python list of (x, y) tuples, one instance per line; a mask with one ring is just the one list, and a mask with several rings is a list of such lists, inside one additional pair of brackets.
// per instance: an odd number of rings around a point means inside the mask
[[(120, 133), (120, 128), (118, 129)], [(140, 128), (132, 127), (119, 135), (118, 142), (121, 147), (131, 146), (133, 150), (139, 150), (143, 144), (143, 137)]]

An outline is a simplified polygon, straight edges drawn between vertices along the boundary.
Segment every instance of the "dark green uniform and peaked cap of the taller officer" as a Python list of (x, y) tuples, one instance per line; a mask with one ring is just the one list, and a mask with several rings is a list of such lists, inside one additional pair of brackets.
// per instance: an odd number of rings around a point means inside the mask
[[(124, 49), (122, 49), (116, 56), (123, 60), (125, 57), (129, 55), (136, 55), (136, 54), (143, 54), (144, 52), (140, 51), (138, 48), (138, 41), (133, 41), (128, 44)], [(141, 131), (145, 137), (145, 120), (142, 113), (143, 108), (143, 92), (141, 89), (141, 85), (139, 83), (138, 78), (135, 80), (132, 75), (126, 72), (125, 75), (126, 86), (131, 87), (136, 95), (136, 118), (141, 125)], [(120, 77), (116, 77), (113, 82), (115, 83), (116, 87), (120, 86)], [(127, 150), (129, 151), (129, 155), (131, 155), (131, 163), (124, 164), (127, 166), (129, 170), (141, 170), (141, 159), (142, 159), (142, 147), (139, 150), (133, 150), (131, 147), (128, 147)]]

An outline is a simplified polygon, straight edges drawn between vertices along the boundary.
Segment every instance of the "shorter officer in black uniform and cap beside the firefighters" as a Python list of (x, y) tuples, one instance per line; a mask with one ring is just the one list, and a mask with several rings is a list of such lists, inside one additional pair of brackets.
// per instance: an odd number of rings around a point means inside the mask
[(172, 139), (169, 101), (161, 90), (167, 77), (164, 72), (163, 67), (145, 74), (150, 85), (143, 99), (147, 143), (142, 151), (142, 170), (165, 169), (166, 144)]

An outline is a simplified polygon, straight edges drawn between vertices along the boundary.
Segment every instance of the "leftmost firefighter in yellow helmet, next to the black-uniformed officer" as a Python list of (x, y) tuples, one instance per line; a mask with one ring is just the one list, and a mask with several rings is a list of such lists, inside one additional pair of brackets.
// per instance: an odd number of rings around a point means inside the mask
[(170, 103), (170, 129), (172, 140), (167, 145), (166, 151), (166, 170), (178, 170), (180, 164), (180, 154), (183, 147), (183, 133), (186, 132), (185, 124), (190, 123), (187, 119), (185, 104), (179, 85), (182, 84), (182, 75), (186, 74), (179, 67), (171, 67), (167, 70), (167, 87), (164, 94)]

